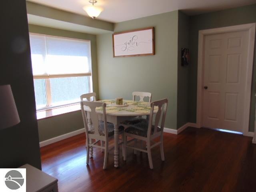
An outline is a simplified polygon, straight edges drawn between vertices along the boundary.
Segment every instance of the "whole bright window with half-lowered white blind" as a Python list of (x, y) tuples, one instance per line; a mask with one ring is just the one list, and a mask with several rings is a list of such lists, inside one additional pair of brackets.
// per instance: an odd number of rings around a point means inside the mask
[(37, 110), (77, 103), (92, 91), (90, 41), (29, 36)]

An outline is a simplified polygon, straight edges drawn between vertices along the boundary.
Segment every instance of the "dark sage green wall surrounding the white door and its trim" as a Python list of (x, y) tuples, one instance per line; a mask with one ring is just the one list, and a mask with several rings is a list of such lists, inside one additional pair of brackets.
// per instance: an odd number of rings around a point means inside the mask
[[(196, 122), (196, 84), (197, 84), (197, 57), (198, 57), (198, 31), (210, 28), (233, 26), (256, 22), (256, 4), (228, 9), (208, 14), (190, 17), (189, 48), (191, 64), (189, 65), (189, 122)], [(256, 48), (255, 48), (256, 50)], [(256, 51), (254, 51), (254, 67), (252, 77), (252, 94), (250, 108), (249, 130), (254, 130), (255, 93), (256, 93)]]

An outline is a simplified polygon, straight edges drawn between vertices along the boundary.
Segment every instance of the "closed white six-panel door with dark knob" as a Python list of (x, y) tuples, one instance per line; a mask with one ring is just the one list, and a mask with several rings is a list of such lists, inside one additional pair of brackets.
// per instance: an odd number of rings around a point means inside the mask
[(242, 132), (248, 30), (205, 36), (202, 126)]

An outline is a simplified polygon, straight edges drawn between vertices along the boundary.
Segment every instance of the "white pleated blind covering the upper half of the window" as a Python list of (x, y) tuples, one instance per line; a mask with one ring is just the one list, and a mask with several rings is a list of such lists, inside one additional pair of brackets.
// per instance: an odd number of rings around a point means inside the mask
[(90, 41), (30, 33), (35, 79), (91, 76)]

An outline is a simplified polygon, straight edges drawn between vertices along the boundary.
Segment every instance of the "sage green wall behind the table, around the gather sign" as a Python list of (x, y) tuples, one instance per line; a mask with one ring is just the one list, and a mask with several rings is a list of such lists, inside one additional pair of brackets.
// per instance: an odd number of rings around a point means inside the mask
[(113, 58), (112, 34), (97, 36), (100, 99), (132, 99), (133, 91), (151, 92), (152, 100), (168, 98), (166, 127), (176, 129), (178, 11), (115, 24), (114, 32), (155, 29), (155, 55)]

